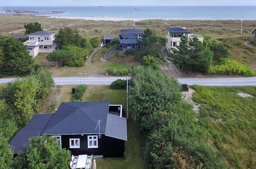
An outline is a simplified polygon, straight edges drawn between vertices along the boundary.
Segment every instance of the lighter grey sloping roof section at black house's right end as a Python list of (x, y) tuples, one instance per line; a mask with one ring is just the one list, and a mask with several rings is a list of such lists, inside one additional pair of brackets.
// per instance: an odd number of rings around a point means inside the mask
[(108, 114), (105, 135), (127, 141), (126, 118)]

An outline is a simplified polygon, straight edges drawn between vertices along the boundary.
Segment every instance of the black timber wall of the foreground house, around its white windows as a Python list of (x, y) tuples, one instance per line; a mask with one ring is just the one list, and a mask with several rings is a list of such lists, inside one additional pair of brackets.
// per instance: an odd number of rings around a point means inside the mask
[[(62, 148), (70, 150), (73, 155), (103, 155), (103, 157), (123, 157), (125, 141), (102, 135), (98, 136), (98, 148), (89, 148), (87, 143), (88, 135), (62, 135)], [(80, 148), (69, 148), (69, 139), (79, 138)]]

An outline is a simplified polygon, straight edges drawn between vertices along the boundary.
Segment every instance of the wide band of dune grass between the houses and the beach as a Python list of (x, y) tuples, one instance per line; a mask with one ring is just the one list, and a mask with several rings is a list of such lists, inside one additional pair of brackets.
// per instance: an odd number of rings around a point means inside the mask
[[(132, 20), (119, 22), (95, 21), (84, 19), (49, 18), (46, 16), (28, 15), (0, 15), (0, 34), (11, 35), (24, 34), (24, 24), (45, 21), (47, 31), (57, 32), (60, 28), (76, 28), (83, 37), (103, 37), (106, 34), (119, 34), (120, 29), (133, 27)], [(243, 33), (251, 36), (251, 31), (256, 25), (256, 20), (244, 20)], [(240, 20), (141, 20), (136, 22), (137, 29), (153, 29), (156, 35), (165, 37), (165, 27), (186, 27), (193, 33), (206, 34), (212, 37), (234, 37), (240, 36)]]

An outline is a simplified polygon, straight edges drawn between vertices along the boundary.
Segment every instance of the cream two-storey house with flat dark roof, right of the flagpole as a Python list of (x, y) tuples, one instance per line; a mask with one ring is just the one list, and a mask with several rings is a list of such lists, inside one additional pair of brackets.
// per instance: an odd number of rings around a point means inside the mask
[(171, 52), (171, 48), (177, 49), (180, 45), (181, 37), (186, 36), (188, 38), (197, 37), (199, 41), (203, 43), (203, 36), (193, 34), (186, 28), (165, 28), (166, 29), (166, 49)]

